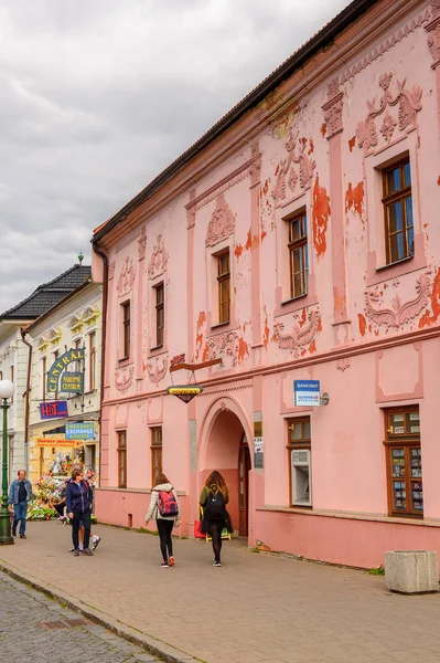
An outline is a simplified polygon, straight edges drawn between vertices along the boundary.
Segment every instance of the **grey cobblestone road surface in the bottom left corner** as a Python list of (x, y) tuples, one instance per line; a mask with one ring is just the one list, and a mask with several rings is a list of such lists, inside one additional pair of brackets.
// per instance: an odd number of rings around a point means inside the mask
[(0, 662), (33, 663), (42, 654), (47, 663), (159, 661), (0, 571)]

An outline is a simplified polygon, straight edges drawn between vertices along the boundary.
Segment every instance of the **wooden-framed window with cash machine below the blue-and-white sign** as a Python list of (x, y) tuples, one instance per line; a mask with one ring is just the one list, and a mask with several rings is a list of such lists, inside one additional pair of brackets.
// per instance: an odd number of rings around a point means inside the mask
[(310, 417), (288, 419), (290, 506), (312, 506)]

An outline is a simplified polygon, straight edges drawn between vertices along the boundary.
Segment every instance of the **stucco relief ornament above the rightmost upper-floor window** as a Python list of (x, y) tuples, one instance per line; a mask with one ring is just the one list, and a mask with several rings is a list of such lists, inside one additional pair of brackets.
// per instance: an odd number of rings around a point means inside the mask
[(377, 130), (375, 118), (385, 113), (388, 106), (398, 106), (398, 119), (388, 113), (384, 118), (380, 133), (385, 139), (389, 143), (394, 127), (397, 125), (400, 131), (407, 128), (411, 128), (416, 125), (417, 113), (421, 110), (421, 95), (422, 90), (418, 85), (412, 86), (412, 92), (405, 88), (406, 78), (401, 82), (397, 81), (397, 92), (393, 95), (389, 90), (393, 74), (386, 73), (379, 78), (379, 85), (384, 91), (380, 97), (378, 106), (376, 106), (376, 99), (367, 102), (368, 115), (364, 122), (359, 122), (356, 128), (356, 136), (358, 146), (363, 147), (367, 152), (372, 147), (377, 145)]

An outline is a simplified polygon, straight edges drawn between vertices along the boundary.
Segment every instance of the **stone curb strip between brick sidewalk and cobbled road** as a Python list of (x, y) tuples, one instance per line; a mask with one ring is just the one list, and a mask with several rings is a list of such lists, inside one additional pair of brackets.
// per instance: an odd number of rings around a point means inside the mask
[(105, 614), (99, 610), (87, 606), (86, 603), (83, 603), (74, 597), (63, 594), (55, 589), (45, 587), (31, 576), (28, 576), (22, 571), (15, 571), (12, 567), (6, 565), (4, 561), (0, 561), (0, 571), (8, 573), (8, 576), (11, 576), (11, 578), (14, 578), (14, 580), (19, 580), (20, 582), (41, 591), (50, 599), (53, 599), (58, 603), (66, 604), (68, 608), (79, 612), (92, 622), (95, 622), (96, 624), (108, 629), (112, 633), (116, 633), (119, 635), (119, 638), (124, 638), (128, 642), (144, 649), (148, 653), (159, 656), (167, 663), (201, 663), (201, 659), (194, 659), (194, 656), (191, 654), (186, 654), (185, 652), (182, 652), (174, 646), (158, 640), (157, 638), (148, 635), (147, 633), (142, 633), (141, 631), (137, 631), (136, 629), (132, 629), (131, 627), (112, 619), (110, 615)]

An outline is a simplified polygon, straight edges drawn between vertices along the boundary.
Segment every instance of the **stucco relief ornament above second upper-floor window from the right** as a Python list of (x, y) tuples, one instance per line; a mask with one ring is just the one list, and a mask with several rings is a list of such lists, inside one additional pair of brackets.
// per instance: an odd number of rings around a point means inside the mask
[[(316, 164), (305, 154), (307, 140), (299, 141), (299, 151), (296, 151), (298, 138), (290, 131), (285, 147), (288, 151), (287, 159), (278, 165), (277, 179), (275, 182), (272, 198), (276, 203), (286, 198), (287, 186), (294, 191), (299, 180), (301, 189), (308, 189), (312, 183), (313, 170)], [(299, 166), (298, 169), (294, 166)]]

